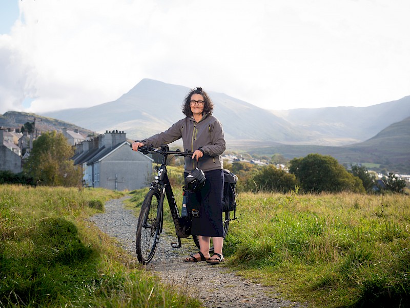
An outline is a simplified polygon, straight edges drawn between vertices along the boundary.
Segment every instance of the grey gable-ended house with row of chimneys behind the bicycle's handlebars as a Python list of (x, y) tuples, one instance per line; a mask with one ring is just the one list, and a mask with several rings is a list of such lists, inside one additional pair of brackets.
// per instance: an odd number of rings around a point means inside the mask
[(75, 165), (83, 167), (86, 187), (134, 190), (151, 181), (153, 160), (134, 152), (124, 131), (106, 131), (77, 144), (72, 159)]

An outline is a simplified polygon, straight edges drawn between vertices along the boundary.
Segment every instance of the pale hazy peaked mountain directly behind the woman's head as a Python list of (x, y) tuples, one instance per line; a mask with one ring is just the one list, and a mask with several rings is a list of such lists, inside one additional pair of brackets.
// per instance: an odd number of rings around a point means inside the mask
[[(124, 130), (130, 139), (149, 137), (183, 118), (182, 102), (190, 89), (144, 79), (113, 102), (76, 109), (43, 113), (97, 132)], [(271, 112), (223, 93), (209, 91), (215, 104), (213, 114), (228, 141), (305, 142), (314, 135), (296, 129)]]

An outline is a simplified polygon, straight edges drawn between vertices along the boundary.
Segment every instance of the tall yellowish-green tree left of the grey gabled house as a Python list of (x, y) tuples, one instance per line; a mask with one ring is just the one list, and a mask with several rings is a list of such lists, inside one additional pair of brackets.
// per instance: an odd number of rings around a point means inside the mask
[(62, 133), (42, 133), (33, 142), (30, 157), (23, 168), (35, 182), (50, 186), (76, 186), (81, 183), (81, 169), (74, 166), (74, 150)]

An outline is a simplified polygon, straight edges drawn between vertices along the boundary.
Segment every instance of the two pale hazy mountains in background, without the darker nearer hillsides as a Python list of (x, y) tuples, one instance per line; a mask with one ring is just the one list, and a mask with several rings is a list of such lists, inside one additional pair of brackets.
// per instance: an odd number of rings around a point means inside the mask
[[(103, 133), (123, 130), (130, 139), (163, 131), (183, 117), (188, 87), (143, 79), (119, 99), (90, 108), (42, 113)], [(269, 111), (224, 93), (208, 91), (231, 145), (310, 144), (339, 146), (367, 140), (410, 116), (410, 96), (370, 107)]]

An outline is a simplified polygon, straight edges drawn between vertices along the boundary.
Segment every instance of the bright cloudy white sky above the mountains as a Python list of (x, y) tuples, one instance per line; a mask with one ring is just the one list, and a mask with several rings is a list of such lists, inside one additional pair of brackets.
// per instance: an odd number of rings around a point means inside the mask
[(272, 110), (394, 101), (410, 95), (409, 13), (408, 0), (0, 0), (0, 113), (91, 107), (144, 78)]

